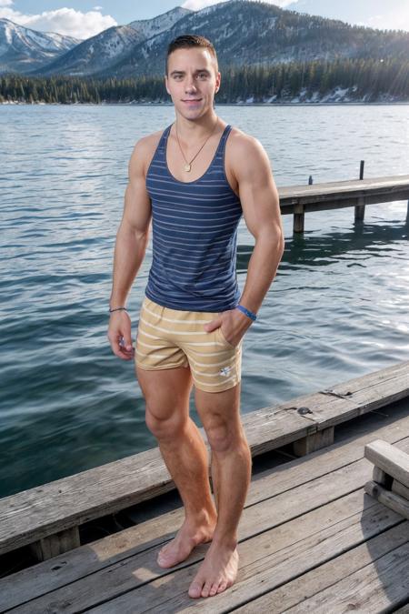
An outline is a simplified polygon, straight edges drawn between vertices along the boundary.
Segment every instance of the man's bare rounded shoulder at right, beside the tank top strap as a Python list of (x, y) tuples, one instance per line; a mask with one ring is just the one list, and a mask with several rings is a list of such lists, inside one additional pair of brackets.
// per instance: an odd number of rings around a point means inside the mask
[(258, 138), (232, 127), (227, 139), (228, 162), (239, 180), (254, 173), (271, 172), (270, 160)]

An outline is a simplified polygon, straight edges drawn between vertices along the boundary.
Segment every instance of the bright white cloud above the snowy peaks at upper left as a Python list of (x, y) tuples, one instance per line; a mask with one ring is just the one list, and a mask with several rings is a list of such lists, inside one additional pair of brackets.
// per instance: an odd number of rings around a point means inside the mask
[(61, 35), (85, 39), (99, 34), (112, 25), (117, 25), (114, 17), (102, 15), (99, 10), (83, 13), (75, 11), (74, 8), (59, 8), (55, 11), (43, 11), (37, 15), (25, 15), (13, 8), (7, 8), (13, 4), (13, 0), (0, 0), (0, 18), (5, 17), (14, 21), (15, 24), (40, 32), (57, 32)]

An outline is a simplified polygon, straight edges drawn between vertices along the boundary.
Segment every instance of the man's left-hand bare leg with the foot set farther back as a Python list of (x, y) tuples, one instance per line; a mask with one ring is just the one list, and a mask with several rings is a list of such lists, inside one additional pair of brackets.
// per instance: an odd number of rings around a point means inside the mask
[(185, 560), (197, 544), (213, 537), (217, 513), (210, 491), (208, 455), (199, 429), (189, 418), (190, 368), (136, 369), (146, 401), (147, 427), (158, 440), (185, 506), (182, 528), (157, 558), (160, 567), (168, 568)]

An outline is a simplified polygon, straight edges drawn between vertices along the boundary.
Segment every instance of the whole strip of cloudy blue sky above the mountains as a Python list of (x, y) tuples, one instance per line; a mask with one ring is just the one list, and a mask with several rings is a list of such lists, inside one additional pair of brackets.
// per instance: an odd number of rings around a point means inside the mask
[[(161, 15), (175, 6), (199, 10), (220, 0), (0, 0), (0, 18), (42, 32), (85, 39), (112, 25)], [(269, 0), (265, 0), (269, 2)], [(409, 32), (409, 0), (274, 0), (269, 4), (348, 24)]]

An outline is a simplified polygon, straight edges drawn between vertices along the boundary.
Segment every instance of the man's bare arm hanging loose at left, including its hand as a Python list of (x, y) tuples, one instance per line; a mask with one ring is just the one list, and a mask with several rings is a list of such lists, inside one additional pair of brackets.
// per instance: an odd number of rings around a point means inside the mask
[[(141, 139), (135, 145), (129, 161), (124, 214), (116, 233), (113, 284), (109, 300), (112, 309), (125, 307), (126, 297), (144, 260), (149, 239), (152, 208), (145, 186), (145, 158), (145, 139)], [(131, 320), (124, 310), (111, 314), (107, 337), (117, 357), (132, 359)], [(124, 337), (124, 346), (119, 344), (120, 337)]]

